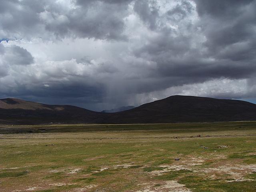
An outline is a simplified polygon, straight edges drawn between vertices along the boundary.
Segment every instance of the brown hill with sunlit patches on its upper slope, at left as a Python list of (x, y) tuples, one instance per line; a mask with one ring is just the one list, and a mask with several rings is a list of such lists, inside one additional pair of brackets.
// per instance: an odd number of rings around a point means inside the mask
[(70, 105), (46, 105), (16, 98), (0, 99), (0, 123), (44, 124), (50, 122), (96, 123), (100, 112)]

